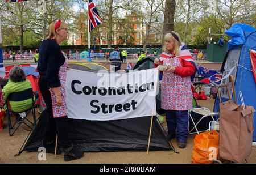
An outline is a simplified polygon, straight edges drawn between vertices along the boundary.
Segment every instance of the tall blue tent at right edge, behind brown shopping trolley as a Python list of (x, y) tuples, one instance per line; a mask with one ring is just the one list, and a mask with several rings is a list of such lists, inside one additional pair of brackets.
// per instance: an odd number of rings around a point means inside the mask
[[(243, 29), (243, 28), (242, 28)], [(249, 33), (248, 31), (253, 31)], [(249, 71), (251, 69), (251, 61), (250, 61), (250, 49), (256, 49), (256, 30), (251, 28), (245, 28), (246, 33), (245, 43), (243, 45), (234, 46), (231, 50), (229, 50), (228, 57), (223, 62), (223, 73), (222, 78), (228, 74), (230, 69), (233, 69), (232, 75), (235, 80), (235, 91), (237, 96), (237, 104), (242, 104), (240, 97), (238, 97), (239, 92), (242, 92), (243, 100), (245, 101), (245, 105), (253, 106), (256, 108), (256, 83), (254, 81), (253, 72)], [(245, 69), (246, 68), (246, 69)], [(230, 84), (228, 78), (221, 79), (221, 84), (227, 84), (229, 87), (229, 93), (232, 94), (232, 84)], [(228, 96), (226, 91), (222, 89), (221, 91), (221, 99), (222, 101), (227, 101)], [(234, 97), (233, 97), (234, 99)], [(214, 103), (214, 112), (219, 111), (218, 104), (220, 103), (220, 99), (218, 96), (216, 97), (216, 101)], [(254, 113), (254, 123), (256, 123), (256, 117)], [(256, 130), (253, 132), (253, 140), (256, 141)]]

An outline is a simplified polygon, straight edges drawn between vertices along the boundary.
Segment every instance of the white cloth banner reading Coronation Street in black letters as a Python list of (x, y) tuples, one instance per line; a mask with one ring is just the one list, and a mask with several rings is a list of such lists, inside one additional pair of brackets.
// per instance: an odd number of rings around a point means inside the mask
[(68, 118), (108, 121), (156, 115), (158, 69), (128, 74), (67, 72)]

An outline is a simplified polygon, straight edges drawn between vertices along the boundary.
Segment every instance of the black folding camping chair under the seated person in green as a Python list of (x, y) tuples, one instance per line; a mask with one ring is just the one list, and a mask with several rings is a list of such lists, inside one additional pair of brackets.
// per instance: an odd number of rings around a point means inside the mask
[[(35, 102), (38, 100), (38, 95), (36, 95), (35, 93), (35, 96), (36, 97), (34, 97), (34, 92), (32, 91), (32, 88), (29, 88), (20, 92), (14, 92), (8, 96), (6, 112), (7, 112), (7, 118), (8, 118), (9, 136), (13, 136), (14, 133), (18, 130), (19, 126), (22, 124), (26, 125), (31, 130), (33, 130), (34, 127), (36, 126), (35, 108), (37, 107), (37, 105), (35, 105)], [(32, 106), (29, 109), (26, 109), (19, 113), (15, 113), (11, 110), (11, 105), (9, 101), (23, 101), (28, 99), (32, 99)], [(27, 119), (27, 116), (31, 112), (31, 110), (32, 110), (33, 122)], [(11, 114), (23, 114), (23, 116), (20, 116), (22, 117), (22, 121), (20, 121), (19, 123), (18, 121), (16, 121), (14, 125), (11, 125)], [(32, 127), (28, 125), (29, 123), (32, 125)], [(15, 128), (13, 133), (11, 133), (11, 129), (14, 129), (15, 125), (18, 125), (18, 126)]]

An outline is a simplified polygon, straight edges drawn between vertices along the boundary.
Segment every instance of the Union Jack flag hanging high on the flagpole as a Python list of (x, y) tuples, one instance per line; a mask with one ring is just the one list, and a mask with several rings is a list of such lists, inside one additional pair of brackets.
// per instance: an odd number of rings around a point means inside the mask
[(90, 32), (94, 28), (96, 28), (97, 25), (100, 25), (102, 23), (102, 20), (100, 19), (100, 15), (98, 14), (98, 11), (94, 6), (94, 3), (92, 2), (92, 0), (89, 0), (88, 14), (89, 14), (89, 32)]

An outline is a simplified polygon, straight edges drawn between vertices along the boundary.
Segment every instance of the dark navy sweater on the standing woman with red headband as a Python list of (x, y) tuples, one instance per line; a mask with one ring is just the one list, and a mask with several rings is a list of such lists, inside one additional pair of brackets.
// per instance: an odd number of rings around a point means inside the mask
[(38, 68), (40, 77), (46, 79), (48, 87), (59, 87), (59, 70), (65, 62), (60, 45), (53, 39), (43, 40), (39, 48)]

